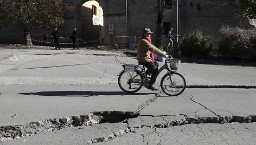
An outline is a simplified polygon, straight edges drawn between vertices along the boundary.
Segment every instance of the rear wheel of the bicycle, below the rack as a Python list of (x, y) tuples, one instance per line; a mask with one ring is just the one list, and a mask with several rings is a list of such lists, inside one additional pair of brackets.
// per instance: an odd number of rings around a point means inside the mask
[(135, 93), (140, 90), (140, 88), (142, 88), (143, 82), (139, 82), (138, 80), (143, 80), (143, 76), (142, 74), (136, 76), (137, 74), (139, 74), (138, 70), (135, 70), (135, 72), (123, 71), (118, 77), (118, 85), (121, 90), (125, 91), (126, 93)]

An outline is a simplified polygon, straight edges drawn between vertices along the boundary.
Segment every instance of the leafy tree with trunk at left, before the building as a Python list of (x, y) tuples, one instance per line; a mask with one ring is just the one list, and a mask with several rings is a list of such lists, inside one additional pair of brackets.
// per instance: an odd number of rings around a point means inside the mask
[(63, 0), (0, 0), (0, 9), (0, 25), (20, 26), (25, 44), (33, 45), (29, 30), (62, 25), (64, 12), (69, 6)]

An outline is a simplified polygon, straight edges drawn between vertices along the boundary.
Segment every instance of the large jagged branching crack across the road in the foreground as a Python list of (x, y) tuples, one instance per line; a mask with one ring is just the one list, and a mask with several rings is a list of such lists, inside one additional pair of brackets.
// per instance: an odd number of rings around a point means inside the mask
[[(0, 141), (4, 140), (12, 140), (12, 139), (19, 139), (24, 136), (31, 136), (34, 134), (39, 134), (45, 131), (52, 131), (52, 130), (60, 130), (69, 127), (79, 127), (79, 126), (93, 126), (94, 124), (101, 124), (101, 123), (118, 123), (124, 122), (127, 124), (127, 128), (121, 129), (115, 133), (111, 133), (108, 136), (99, 137), (96, 139), (88, 140), (88, 143), (96, 143), (96, 142), (104, 142), (110, 141), (114, 139), (114, 137), (123, 136), (129, 133), (135, 133), (136, 129), (143, 128), (143, 127), (150, 127), (150, 128), (169, 128), (174, 126), (182, 126), (184, 124), (200, 124), (200, 123), (231, 123), (231, 122), (240, 122), (240, 123), (249, 123), (255, 122), (256, 116), (224, 116), (221, 117), (217, 115), (217, 117), (197, 117), (191, 118), (187, 115), (164, 115), (164, 116), (143, 116), (140, 115), (140, 111), (146, 106), (149, 106), (151, 102), (155, 101), (159, 94), (154, 95), (151, 99), (145, 101), (138, 109), (134, 112), (129, 111), (96, 111), (89, 113), (88, 115), (80, 115), (80, 116), (70, 116), (64, 118), (53, 118), (48, 120), (42, 120), (37, 122), (30, 122), (25, 125), (16, 125), (16, 126), (2, 126), (0, 127)], [(200, 104), (190, 98), (191, 101)], [(204, 106), (203, 106), (204, 107)], [(204, 107), (206, 108), (206, 107)], [(207, 109), (207, 108), (206, 108)], [(209, 110), (209, 109), (208, 109)], [(166, 116), (177, 117), (178, 119), (164, 119)], [(143, 125), (130, 125), (131, 120), (137, 117), (151, 117), (159, 118), (162, 117), (163, 121), (161, 122), (154, 122), (153, 124)]]

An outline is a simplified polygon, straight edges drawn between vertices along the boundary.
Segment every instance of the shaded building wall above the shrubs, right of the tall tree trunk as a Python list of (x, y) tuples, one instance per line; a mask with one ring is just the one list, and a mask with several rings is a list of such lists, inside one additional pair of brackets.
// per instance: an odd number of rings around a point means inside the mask
[[(172, 1), (172, 9), (165, 9), (164, 22), (169, 22), (174, 27), (176, 34), (176, 1)], [(184, 36), (191, 31), (199, 30), (203, 35), (214, 38), (222, 25), (231, 27), (251, 28), (248, 18), (239, 17), (236, 14), (239, 9), (234, 9), (228, 4), (219, 4), (211, 7), (214, 3), (210, 0), (183, 0), (178, 3), (178, 34)]]

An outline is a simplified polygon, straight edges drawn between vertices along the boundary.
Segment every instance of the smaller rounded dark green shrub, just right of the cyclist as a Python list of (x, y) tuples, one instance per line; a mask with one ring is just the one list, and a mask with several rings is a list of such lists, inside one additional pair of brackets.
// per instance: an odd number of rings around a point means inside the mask
[(203, 37), (201, 31), (193, 31), (183, 37), (180, 55), (190, 58), (208, 58), (212, 49), (212, 38)]

